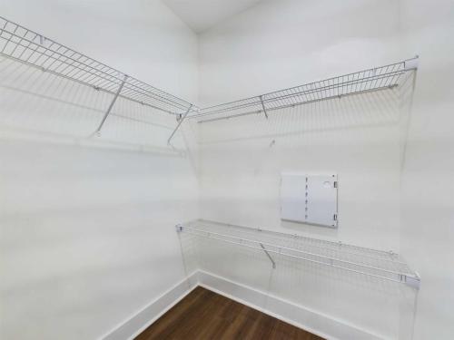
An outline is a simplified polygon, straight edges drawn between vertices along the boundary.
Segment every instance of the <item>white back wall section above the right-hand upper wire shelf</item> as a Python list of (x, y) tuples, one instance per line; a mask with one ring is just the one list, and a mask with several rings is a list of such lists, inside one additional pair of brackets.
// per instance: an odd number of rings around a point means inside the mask
[(216, 104), (399, 61), (392, 0), (263, 0), (200, 35), (200, 102)]

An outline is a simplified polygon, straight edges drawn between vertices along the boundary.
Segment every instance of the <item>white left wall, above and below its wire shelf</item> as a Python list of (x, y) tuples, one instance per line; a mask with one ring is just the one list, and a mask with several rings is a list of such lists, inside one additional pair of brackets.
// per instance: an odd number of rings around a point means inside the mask
[[(0, 12), (185, 99), (197, 97), (196, 36), (159, 1), (15, 0), (2, 1)], [(8, 61), (0, 73), (0, 337), (98, 338), (185, 276), (173, 226), (198, 217), (192, 162), (172, 152), (74, 145), (84, 138), (17, 139), (23, 127), (79, 138), (94, 131), (96, 110), (110, 98)], [(64, 101), (54, 101), (56, 94)], [(139, 131), (119, 112), (153, 120), (119, 101), (103, 131), (118, 141)], [(167, 137), (174, 118), (156, 117), (144, 134)], [(14, 129), (6, 134), (5, 125)]]

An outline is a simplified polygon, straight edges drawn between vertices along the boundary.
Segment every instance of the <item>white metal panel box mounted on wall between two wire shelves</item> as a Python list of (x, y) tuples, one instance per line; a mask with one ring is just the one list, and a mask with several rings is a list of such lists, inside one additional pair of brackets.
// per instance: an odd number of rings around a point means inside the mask
[(281, 219), (338, 226), (337, 175), (281, 174)]

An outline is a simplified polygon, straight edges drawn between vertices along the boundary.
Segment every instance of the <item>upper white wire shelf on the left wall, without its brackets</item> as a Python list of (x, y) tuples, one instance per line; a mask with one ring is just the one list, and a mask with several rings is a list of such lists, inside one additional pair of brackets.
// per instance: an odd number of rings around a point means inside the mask
[(196, 110), (173, 94), (126, 75), (0, 16), (0, 54), (46, 73), (173, 114)]

